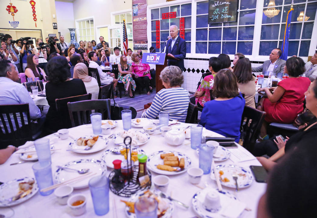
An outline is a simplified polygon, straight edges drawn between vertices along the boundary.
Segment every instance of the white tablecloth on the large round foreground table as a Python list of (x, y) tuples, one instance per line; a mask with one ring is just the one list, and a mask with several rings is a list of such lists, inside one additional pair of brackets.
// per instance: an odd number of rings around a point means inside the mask
[[(188, 124), (183, 123), (182, 125), (187, 126)], [(133, 129), (139, 129), (141, 128), (133, 128)], [(115, 128), (115, 132), (119, 132), (122, 130), (122, 121), (118, 121), (118, 127)], [(74, 127), (69, 129), (69, 133), (73, 135), (74, 137), (80, 137), (84, 135), (92, 135), (93, 130), (91, 125), (82, 125), (79, 127)], [(113, 133), (113, 130), (111, 134)], [(214, 136), (219, 137), (220, 135), (211, 131), (205, 131), (203, 133), (204, 135), (208, 136)], [(68, 144), (71, 142), (72, 139), (68, 138), (67, 140), (58, 140), (57, 143), (54, 144), (56, 149), (61, 149), (55, 151), (55, 153), (52, 154), (52, 171), (53, 176), (54, 172), (56, 171), (57, 165), (63, 165), (70, 161), (74, 161), (81, 158), (95, 158), (95, 159), (101, 159), (101, 155), (103, 152), (109, 148), (114, 147), (112, 139), (109, 140), (109, 145), (106, 149), (103, 149), (99, 152), (93, 153), (93, 154), (78, 154), (74, 153), (72, 151), (66, 151), (68, 149)], [(188, 140), (185, 140), (184, 143), (180, 146), (170, 146), (167, 145), (164, 141), (164, 138), (161, 135), (154, 135), (150, 137), (150, 140), (145, 144), (140, 146), (141, 149), (143, 149), (146, 152), (146, 155), (150, 155), (155, 151), (158, 150), (176, 150), (185, 153), (191, 158), (191, 166), (192, 167), (198, 167), (198, 155), (196, 153), (196, 150), (191, 149), (190, 144), (185, 145), (188, 143)], [(243, 147), (239, 146), (237, 149), (244, 149)], [(245, 149), (244, 149), (245, 150)], [(18, 154), (13, 154), (11, 157), (5, 162), (3, 165), (0, 166), (0, 181), (1, 182), (7, 182), (16, 178), (22, 178), (24, 176), (34, 177), (33, 171), (32, 171), (32, 165), (34, 162), (28, 162), (23, 164), (17, 164), (10, 166), (10, 163), (19, 162), (21, 161), (19, 159)], [(233, 162), (228, 159), (224, 162), (216, 162), (216, 164), (233, 164)], [(239, 166), (243, 166), (245, 168), (249, 168), (250, 165), (261, 165), (256, 159), (251, 161), (245, 161), (245, 162), (239, 162), (236, 163)], [(113, 169), (108, 168), (107, 175), (111, 172)], [(152, 173), (152, 177), (158, 175), (156, 173)], [(207, 182), (211, 187), (217, 187), (216, 182), (214, 180), (210, 179), (210, 174), (203, 175), (202, 181), (200, 182), (200, 186), (204, 187), (204, 183)], [(223, 187), (224, 190), (229, 191), (230, 193), (235, 193), (235, 189), (233, 188), (226, 188)], [(246, 218), (254, 218), (256, 217), (256, 208), (259, 201), (259, 198), (261, 195), (265, 192), (266, 184), (265, 183), (257, 183), (254, 181), (251, 186), (248, 188), (243, 188), (239, 192), (235, 193), (236, 196), (240, 201), (243, 201), (246, 203), (248, 208), (251, 208), (251, 211), (244, 211), (241, 215), (241, 217)], [(188, 174), (187, 172), (184, 172), (183, 174), (179, 175), (173, 175), (170, 176), (170, 184), (168, 186), (168, 194), (171, 194), (172, 197), (175, 199), (182, 201), (183, 203), (190, 206), (189, 209), (185, 209), (178, 204), (174, 203), (175, 209), (172, 214), (173, 218), (189, 218), (193, 216), (198, 216), (195, 211), (193, 210), (191, 206), (191, 199), (193, 195), (201, 190), (200, 188), (192, 185), (188, 181)], [(78, 216), (78, 217), (108, 217), (108, 218), (115, 218), (115, 209), (114, 209), (114, 201), (117, 208), (117, 214), (118, 218), (124, 218), (125, 215), (125, 204), (120, 202), (120, 199), (127, 199), (124, 197), (119, 197), (117, 195), (114, 195), (110, 191), (109, 196), (109, 204), (110, 204), (110, 210), (108, 214), (104, 216), (97, 216), (94, 214), (93, 209), (93, 203), (90, 195), (89, 188), (83, 188), (83, 189), (77, 189), (74, 190), (73, 194), (76, 193), (82, 193), (86, 195), (87, 197), (87, 212), (84, 215)], [(12, 206), (11, 207), (15, 211), (15, 215), (13, 217), (16, 218), (37, 218), (37, 217), (47, 217), (47, 218), (67, 218), (67, 217), (73, 217), (71, 215), (71, 210), (68, 208), (67, 205), (59, 205), (56, 201), (54, 193), (48, 196), (42, 196), (38, 192), (35, 196), (33, 196), (31, 199), (21, 203), (20, 205)], [(5, 208), (0, 208), (0, 214), (1, 211), (5, 210)]]

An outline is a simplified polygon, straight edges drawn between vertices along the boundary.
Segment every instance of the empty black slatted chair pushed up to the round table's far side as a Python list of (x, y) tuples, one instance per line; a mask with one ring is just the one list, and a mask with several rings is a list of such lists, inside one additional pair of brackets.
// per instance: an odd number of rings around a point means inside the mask
[(111, 120), (110, 99), (68, 102), (68, 111), (72, 127), (91, 123), (90, 114), (101, 113), (102, 120)]

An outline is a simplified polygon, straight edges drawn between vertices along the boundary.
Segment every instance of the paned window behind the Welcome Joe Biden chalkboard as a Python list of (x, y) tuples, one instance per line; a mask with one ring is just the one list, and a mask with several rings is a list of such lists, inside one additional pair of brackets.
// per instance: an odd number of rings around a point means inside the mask
[(197, 54), (252, 55), (256, 0), (241, 0), (239, 4), (236, 22), (208, 24), (208, 1), (197, 2)]

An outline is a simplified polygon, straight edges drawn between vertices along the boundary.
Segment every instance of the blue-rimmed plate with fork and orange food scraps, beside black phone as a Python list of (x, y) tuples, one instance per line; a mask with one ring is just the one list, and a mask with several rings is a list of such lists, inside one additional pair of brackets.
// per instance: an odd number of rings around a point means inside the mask
[[(238, 187), (239, 188), (246, 188), (248, 186), (251, 185), (251, 183), (253, 182), (254, 180), (254, 177), (251, 173), (250, 170), (246, 169), (246, 168), (243, 168), (243, 167), (240, 167), (240, 166), (237, 166), (237, 165), (218, 165), (216, 167), (217, 169), (217, 173), (219, 175), (219, 170), (222, 170), (223, 171), (223, 175), (221, 175), (221, 178), (228, 178), (230, 181), (229, 182), (222, 182), (220, 180), (220, 183), (223, 185), (223, 186), (227, 186), (227, 187), (230, 187), (230, 188), (236, 188), (236, 182), (234, 181), (234, 179), (232, 178), (232, 174), (236, 174), (238, 175)], [(212, 169), (211, 173), (210, 173), (210, 178), (213, 179), (213, 180), (216, 180), (215, 179), (215, 174), (214, 174), (214, 170)]]

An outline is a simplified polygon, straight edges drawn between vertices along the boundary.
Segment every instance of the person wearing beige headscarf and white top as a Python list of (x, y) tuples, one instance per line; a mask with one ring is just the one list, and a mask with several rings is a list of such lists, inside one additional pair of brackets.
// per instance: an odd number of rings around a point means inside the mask
[(94, 77), (88, 76), (87, 66), (84, 63), (77, 63), (74, 66), (75, 67), (74, 67), (74, 77), (73, 78), (74, 79), (81, 79), (84, 82), (87, 93), (91, 93), (91, 99), (93, 99), (93, 100), (98, 99), (98, 95), (99, 95), (98, 82)]

